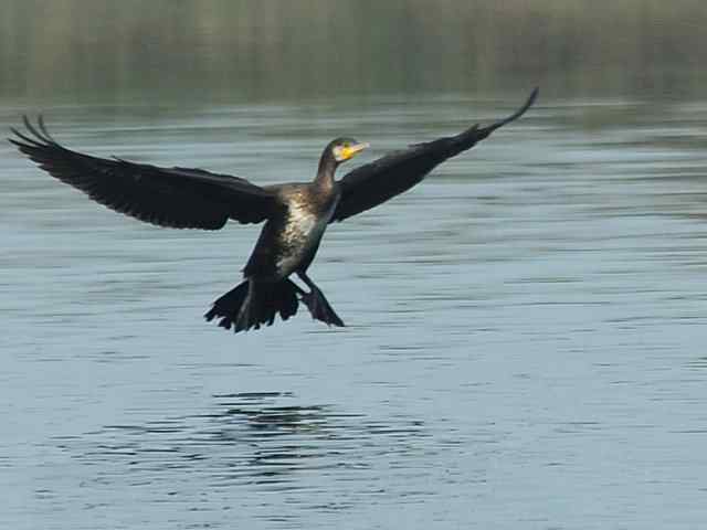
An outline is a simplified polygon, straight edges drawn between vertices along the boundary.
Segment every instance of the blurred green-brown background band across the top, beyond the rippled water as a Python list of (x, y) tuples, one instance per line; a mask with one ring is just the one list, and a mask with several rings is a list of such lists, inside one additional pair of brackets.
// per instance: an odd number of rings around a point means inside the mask
[(705, 0), (4, 0), (0, 97), (698, 96)]

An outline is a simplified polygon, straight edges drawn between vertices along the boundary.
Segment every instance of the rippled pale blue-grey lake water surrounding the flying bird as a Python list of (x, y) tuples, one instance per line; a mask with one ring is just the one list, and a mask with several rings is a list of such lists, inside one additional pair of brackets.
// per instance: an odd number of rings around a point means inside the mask
[[(525, 96), (43, 112), (70, 147), (274, 183)], [(706, 138), (707, 102), (541, 94), (330, 226), (312, 276), (348, 327), (236, 336), (202, 314), (258, 227), (141, 224), (3, 145), (0, 527), (701, 528)]]

